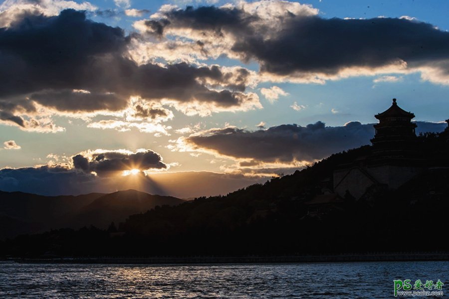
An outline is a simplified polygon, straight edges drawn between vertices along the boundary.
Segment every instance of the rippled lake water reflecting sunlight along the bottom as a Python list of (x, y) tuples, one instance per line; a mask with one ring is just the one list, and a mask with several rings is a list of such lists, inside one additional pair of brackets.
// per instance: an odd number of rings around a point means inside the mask
[(389, 298), (397, 279), (410, 279), (412, 284), (440, 279), (445, 291), (449, 262), (176, 266), (0, 262), (0, 298)]

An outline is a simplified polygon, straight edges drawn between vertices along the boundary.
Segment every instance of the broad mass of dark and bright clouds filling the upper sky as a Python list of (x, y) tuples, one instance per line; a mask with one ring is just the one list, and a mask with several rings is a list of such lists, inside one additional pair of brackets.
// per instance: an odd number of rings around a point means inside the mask
[[(66, 7), (89, 12), (60, 11)], [(1, 4), (1, 124), (61, 132), (55, 115), (102, 115), (114, 119), (99, 118), (90, 126), (165, 134), (162, 122), (173, 118), (173, 110), (209, 116), (261, 109), (248, 88), (265, 81), (322, 84), (388, 73), (374, 80), (391, 82), (401, 78), (391, 74), (420, 71), (425, 80), (449, 84), (449, 33), (417, 20), (325, 19), (297, 2), (240, 1), (185, 9), (163, 5), (134, 23), (140, 33), (127, 34), (86, 18), (97, 10), (89, 2)], [(256, 61), (260, 71), (199, 62), (222, 55)], [(277, 86), (261, 93), (269, 101), (286, 95)], [(133, 97), (141, 99), (132, 108), (134, 119), (128, 113)]]

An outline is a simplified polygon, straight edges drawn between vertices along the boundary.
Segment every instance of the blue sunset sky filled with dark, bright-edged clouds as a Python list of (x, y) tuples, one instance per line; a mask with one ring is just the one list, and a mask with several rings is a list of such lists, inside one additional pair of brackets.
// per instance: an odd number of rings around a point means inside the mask
[(449, 118), (447, 1), (6, 0), (0, 190), (226, 194)]

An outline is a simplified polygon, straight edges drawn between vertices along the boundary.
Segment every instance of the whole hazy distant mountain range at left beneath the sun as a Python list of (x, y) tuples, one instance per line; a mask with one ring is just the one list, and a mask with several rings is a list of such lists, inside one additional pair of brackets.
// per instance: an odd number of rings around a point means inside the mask
[(106, 228), (113, 221), (124, 221), (130, 214), (181, 202), (182, 199), (175, 197), (135, 190), (78, 196), (0, 191), (0, 239), (62, 227), (95, 225)]

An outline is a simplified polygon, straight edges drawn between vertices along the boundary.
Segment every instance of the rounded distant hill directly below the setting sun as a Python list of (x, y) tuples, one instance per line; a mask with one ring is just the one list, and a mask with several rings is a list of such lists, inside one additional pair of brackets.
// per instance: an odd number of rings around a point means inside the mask
[(126, 190), (117, 191), (98, 197), (82, 207), (71, 219), (71, 227), (94, 225), (107, 227), (111, 222), (120, 223), (129, 215), (143, 213), (163, 205), (177, 205), (184, 200), (172, 197), (151, 195), (148, 193)]

